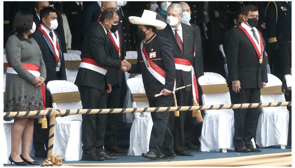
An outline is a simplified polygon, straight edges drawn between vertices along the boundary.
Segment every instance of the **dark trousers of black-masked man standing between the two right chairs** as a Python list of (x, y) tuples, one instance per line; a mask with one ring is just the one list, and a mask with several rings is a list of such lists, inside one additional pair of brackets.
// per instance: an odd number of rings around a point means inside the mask
[[(237, 103), (259, 103), (260, 90), (240, 89), (240, 93), (234, 93), (229, 88), (232, 104)], [(234, 135), (233, 144), (236, 149), (253, 148), (251, 139), (255, 136), (260, 108), (234, 109)]]

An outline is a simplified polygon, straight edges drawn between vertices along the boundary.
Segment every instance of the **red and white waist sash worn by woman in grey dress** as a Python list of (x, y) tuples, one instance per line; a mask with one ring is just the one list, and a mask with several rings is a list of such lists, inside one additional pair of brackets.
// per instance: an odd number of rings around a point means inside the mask
[[(27, 63), (21, 63), (28, 72), (32, 73), (34, 76), (39, 77), (40, 76), (40, 67), (38, 65), (34, 64), (27, 64)], [(18, 74), (11, 66), (10, 62), (7, 64), (7, 70), (6, 73), (11, 74)], [(43, 109), (46, 108), (46, 101), (45, 101), (45, 84), (43, 83), (41, 85), (42, 90), (42, 97), (43, 97)]]

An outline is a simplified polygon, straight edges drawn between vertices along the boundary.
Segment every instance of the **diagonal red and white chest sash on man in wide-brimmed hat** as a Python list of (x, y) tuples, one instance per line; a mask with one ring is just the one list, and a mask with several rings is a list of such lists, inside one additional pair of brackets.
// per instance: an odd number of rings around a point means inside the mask
[[(160, 81), (163, 85), (165, 85), (166, 83), (166, 72), (160, 68), (157, 64), (155, 64), (149, 57), (149, 55), (147, 55), (146, 51), (145, 51), (145, 47), (143, 45), (143, 41), (141, 41), (140, 43), (140, 51), (141, 51), (141, 56), (143, 59), (143, 63), (145, 64), (145, 67), (147, 68), (147, 70), (150, 71), (150, 73), (158, 80)], [(148, 63), (149, 65), (146, 65), (146, 63)]]

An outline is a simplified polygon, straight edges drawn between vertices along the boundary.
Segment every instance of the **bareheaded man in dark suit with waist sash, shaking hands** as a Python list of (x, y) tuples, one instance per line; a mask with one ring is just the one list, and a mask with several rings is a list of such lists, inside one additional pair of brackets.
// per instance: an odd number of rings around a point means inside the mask
[[(129, 67), (126, 62), (112, 59), (113, 50), (107, 32), (119, 23), (119, 14), (113, 9), (102, 12), (100, 21), (90, 25), (85, 34), (75, 85), (78, 86), (83, 108), (106, 108), (111, 85), (107, 79), (108, 68)], [(104, 137), (106, 114), (82, 115), (82, 160), (113, 160), (116, 156), (105, 153)]]

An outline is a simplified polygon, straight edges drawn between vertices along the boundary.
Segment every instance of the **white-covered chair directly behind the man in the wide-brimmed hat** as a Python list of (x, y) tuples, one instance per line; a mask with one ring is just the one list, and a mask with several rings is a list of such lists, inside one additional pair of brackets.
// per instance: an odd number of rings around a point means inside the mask
[[(142, 78), (127, 80), (128, 89), (132, 95), (133, 107), (149, 107)], [(130, 130), (130, 146), (128, 155), (141, 156), (149, 151), (150, 137), (153, 128), (151, 113), (134, 113), (134, 120)]]

